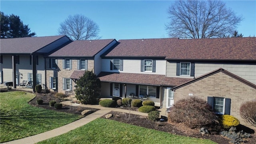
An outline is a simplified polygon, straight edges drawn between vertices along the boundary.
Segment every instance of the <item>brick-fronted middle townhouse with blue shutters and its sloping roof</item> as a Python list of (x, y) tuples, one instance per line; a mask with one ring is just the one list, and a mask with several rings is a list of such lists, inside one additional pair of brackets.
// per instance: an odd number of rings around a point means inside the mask
[(46, 58), (47, 87), (58, 92), (71, 91), (85, 70), (98, 75), (102, 67), (100, 56), (116, 43), (115, 39), (77, 40), (53, 52)]

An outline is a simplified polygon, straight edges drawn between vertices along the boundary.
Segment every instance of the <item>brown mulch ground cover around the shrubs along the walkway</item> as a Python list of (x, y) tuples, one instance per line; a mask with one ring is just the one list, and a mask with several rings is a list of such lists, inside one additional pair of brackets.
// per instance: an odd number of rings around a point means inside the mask
[[(1, 92), (4, 92), (5, 90), (1, 90)], [(41, 98), (44, 101), (44, 104), (38, 105), (36, 103), (36, 100)], [(63, 105), (62, 109), (58, 110), (55, 109), (53, 106), (49, 106), (49, 102), (51, 100), (55, 100), (56, 102), (61, 102), (62, 100), (55, 98), (54, 93), (36, 93), (36, 97), (32, 99), (29, 104), (32, 106), (37, 106), (41, 108), (45, 108), (48, 110), (56, 110), (60, 112), (68, 112), (68, 113), (73, 113), (73, 114), (81, 114), (83, 110), (92, 110), (93, 112), (96, 112), (98, 109), (96, 108), (87, 108), (87, 107), (81, 107), (81, 106), (68, 106), (68, 105)], [(120, 107), (122, 109), (127, 109), (126, 107)], [(132, 110), (138, 110), (138, 108), (132, 108)], [(214, 128), (207, 128), (211, 134), (201, 134), (199, 132), (200, 128), (188, 128), (188, 126), (185, 126), (184, 124), (178, 123), (171, 123), (168, 124), (168, 122), (153, 122), (151, 120), (148, 120), (146, 116), (140, 116), (140, 115), (134, 115), (130, 114), (130, 119), (128, 119), (128, 114), (122, 113), (122, 112), (110, 112), (113, 114), (110, 120), (116, 120), (118, 122), (124, 122), (127, 124), (132, 124), (136, 126), (142, 126), (144, 128), (150, 128), (154, 130), (159, 130), (163, 132), (169, 132), (172, 134), (177, 134), (180, 136), (189, 136), (189, 137), (194, 137), (194, 138), (202, 138), (202, 139), (209, 139), (212, 140), (218, 144), (228, 144), (229, 139), (225, 138), (221, 135), (219, 135), (219, 132), (215, 131)], [(86, 116), (86, 115), (85, 115)], [(105, 118), (105, 115), (102, 116), (102, 118)], [(256, 142), (256, 134), (254, 133), (253, 130), (248, 129), (245, 126), (241, 126), (240, 130), (244, 130), (244, 132), (251, 133), (251, 138), (246, 142), (246, 144), (255, 144)]]

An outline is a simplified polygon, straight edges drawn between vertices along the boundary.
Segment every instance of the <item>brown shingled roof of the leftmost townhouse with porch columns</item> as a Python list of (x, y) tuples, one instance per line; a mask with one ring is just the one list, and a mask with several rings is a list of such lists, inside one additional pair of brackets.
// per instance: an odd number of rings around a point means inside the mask
[(1, 54), (31, 54), (66, 36), (1, 38)]

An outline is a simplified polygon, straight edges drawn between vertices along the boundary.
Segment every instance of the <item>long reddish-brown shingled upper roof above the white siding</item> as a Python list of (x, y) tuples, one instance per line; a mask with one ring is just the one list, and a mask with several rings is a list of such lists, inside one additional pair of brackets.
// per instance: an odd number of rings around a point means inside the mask
[(119, 40), (106, 57), (165, 57), (166, 60), (256, 60), (256, 37)]

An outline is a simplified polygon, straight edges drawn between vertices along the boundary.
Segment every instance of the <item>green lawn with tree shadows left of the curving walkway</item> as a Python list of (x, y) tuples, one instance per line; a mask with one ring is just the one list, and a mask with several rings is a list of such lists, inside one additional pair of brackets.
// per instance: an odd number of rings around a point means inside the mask
[(40, 134), (82, 116), (37, 108), (28, 104), (35, 95), (29, 92), (0, 93), (0, 142), (7, 142)]

